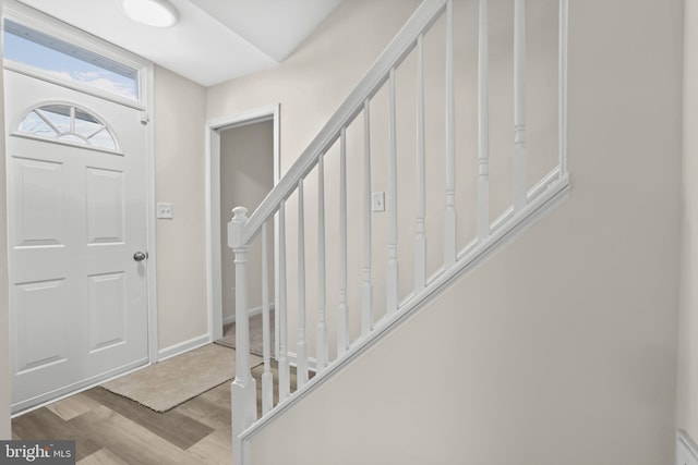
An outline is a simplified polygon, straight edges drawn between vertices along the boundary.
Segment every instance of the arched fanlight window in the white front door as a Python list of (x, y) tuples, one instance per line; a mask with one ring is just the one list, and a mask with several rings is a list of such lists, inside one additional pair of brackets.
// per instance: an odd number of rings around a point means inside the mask
[(117, 150), (117, 140), (99, 118), (71, 105), (45, 105), (22, 119), (20, 132), (60, 142)]

